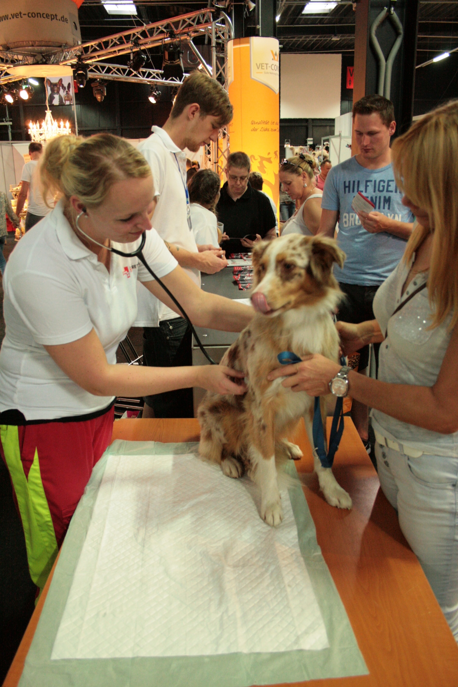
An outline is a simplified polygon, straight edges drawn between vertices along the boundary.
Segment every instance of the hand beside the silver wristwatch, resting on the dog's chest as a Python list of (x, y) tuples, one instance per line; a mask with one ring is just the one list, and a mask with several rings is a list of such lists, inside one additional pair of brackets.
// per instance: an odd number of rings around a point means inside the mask
[(273, 381), (286, 376), (282, 386), (290, 387), (291, 391), (304, 391), (309, 396), (324, 396), (329, 393), (328, 383), (340, 368), (341, 365), (333, 363), (324, 355), (305, 355), (302, 363), (282, 365), (269, 372), (267, 379)]

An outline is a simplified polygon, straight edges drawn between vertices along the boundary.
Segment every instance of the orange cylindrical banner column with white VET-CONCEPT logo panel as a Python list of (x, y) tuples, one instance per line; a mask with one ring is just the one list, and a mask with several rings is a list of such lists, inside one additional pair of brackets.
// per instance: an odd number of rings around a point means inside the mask
[(280, 60), (276, 38), (234, 38), (228, 42), (230, 152), (243, 150), (253, 172), (264, 179), (263, 191), (278, 207), (280, 150)]

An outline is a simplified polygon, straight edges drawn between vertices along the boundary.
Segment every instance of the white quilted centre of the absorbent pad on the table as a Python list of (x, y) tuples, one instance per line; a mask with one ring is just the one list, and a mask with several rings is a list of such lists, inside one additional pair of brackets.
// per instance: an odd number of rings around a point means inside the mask
[(288, 491), (278, 528), (249, 480), (195, 455), (110, 455), (51, 659), (329, 646)]

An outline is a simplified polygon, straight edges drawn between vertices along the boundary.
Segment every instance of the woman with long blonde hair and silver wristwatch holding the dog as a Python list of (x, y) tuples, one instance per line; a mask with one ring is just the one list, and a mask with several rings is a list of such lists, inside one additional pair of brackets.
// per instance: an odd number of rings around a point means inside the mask
[[(373, 408), (381, 487), (458, 640), (458, 101), (415, 122), (392, 153), (418, 224), (376, 293), (376, 319), (337, 328), (346, 354), (383, 341), (378, 379), (349, 372), (348, 393)], [(315, 396), (337, 372), (313, 355), (272, 377)]]

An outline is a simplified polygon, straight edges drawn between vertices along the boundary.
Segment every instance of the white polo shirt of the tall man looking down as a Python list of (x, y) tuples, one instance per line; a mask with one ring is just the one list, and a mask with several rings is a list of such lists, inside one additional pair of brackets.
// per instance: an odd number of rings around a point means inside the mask
[[(165, 241), (197, 253), (194, 234), (189, 229), (186, 216), (186, 154), (160, 126), (153, 126), (152, 131), (152, 135), (141, 142), (138, 150), (147, 159), (154, 188), (160, 193), (154, 210), (154, 227)], [(200, 271), (191, 267), (183, 269), (200, 287)], [(175, 317), (179, 315), (138, 284), (136, 327), (158, 327), (162, 320)]]

